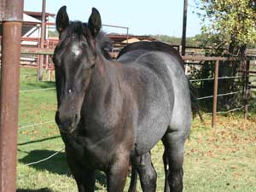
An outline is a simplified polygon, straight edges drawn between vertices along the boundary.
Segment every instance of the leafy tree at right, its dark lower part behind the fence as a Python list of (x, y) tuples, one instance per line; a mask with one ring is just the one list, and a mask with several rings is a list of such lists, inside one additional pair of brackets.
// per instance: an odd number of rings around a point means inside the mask
[[(255, 0), (197, 0), (198, 15), (201, 17), (201, 31), (207, 34), (205, 45), (215, 48), (215, 55), (238, 56), (245, 67), (247, 44), (256, 43)], [(212, 54), (212, 53), (211, 53)], [(239, 63), (220, 63), (219, 76), (236, 76)], [(237, 86), (241, 79), (219, 79), (218, 92), (241, 90)], [(206, 88), (209, 89), (209, 84)], [(211, 87), (212, 90), (212, 87)], [(231, 108), (238, 103), (236, 95), (224, 96), (218, 102)]]

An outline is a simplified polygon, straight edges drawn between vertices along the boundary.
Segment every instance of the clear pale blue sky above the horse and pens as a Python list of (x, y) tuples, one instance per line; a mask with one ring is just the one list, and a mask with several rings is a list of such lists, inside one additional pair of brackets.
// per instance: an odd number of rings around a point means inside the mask
[[(200, 19), (193, 14), (193, 2), (189, 0), (187, 37), (201, 33)], [(130, 34), (182, 36), (183, 0), (46, 0), (46, 11), (56, 14), (63, 5), (67, 6), (70, 20), (87, 22), (91, 8), (95, 7), (102, 24), (129, 27)], [(41, 12), (42, 0), (24, 0), (24, 10)], [(103, 31), (126, 33), (125, 29), (106, 26)]]

